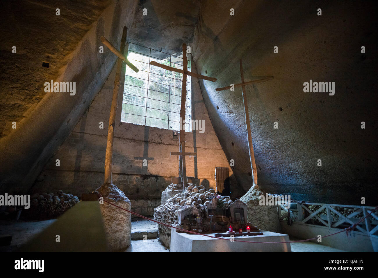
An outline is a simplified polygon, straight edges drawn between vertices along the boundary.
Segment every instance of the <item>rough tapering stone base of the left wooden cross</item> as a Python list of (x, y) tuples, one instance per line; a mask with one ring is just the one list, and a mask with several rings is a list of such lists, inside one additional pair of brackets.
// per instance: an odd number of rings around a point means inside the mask
[[(103, 184), (93, 192), (101, 194), (105, 201), (127, 210), (131, 209), (129, 198), (114, 184)], [(131, 213), (106, 202), (101, 204), (100, 208), (110, 250), (119, 251), (129, 247), (131, 244)]]

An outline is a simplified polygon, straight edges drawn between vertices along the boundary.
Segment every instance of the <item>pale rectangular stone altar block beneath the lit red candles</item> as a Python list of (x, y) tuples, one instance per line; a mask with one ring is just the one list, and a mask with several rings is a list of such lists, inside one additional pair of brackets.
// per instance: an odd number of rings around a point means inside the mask
[[(263, 235), (234, 237), (234, 240), (279, 242), (289, 241), (289, 236), (259, 230)], [(210, 234), (214, 235), (214, 234)], [(171, 252), (291, 252), (290, 243), (245, 243), (220, 240), (202, 235), (178, 233), (171, 228)]]

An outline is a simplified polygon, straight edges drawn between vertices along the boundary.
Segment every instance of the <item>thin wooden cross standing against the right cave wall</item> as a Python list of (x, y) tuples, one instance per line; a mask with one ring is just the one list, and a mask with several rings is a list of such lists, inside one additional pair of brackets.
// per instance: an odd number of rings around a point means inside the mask
[[(244, 72), (243, 72), (243, 63), (242, 59), (239, 60), (240, 64), (240, 77), (242, 78), (242, 83), (234, 85), (235, 87), (242, 87), (242, 95), (243, 95), (243, 104), (244, 104), (244, 112), (245, 112), (245, 124), (247, 127), (247, 135), (248, 135), (248, 149), (249, 149), (249, 160), (251, 161), (251, 167), (252, 167), (252, 176), (253, 176), (253, 184), (257, 184), (257, 168), (256, 168), (256, 162), (255, 162), (255, 155), (253, 152), (253, 145), (252, 145), (252, 134), (251, 134), (251, 124), (249, 123), (249, 112), (248, 112), (248, 103), (246, 98), (246, 91), (245, 91), (245, 85), (255, 84), (259, 82), (264, 82), (273, 79), (273, 76), (269, 76), (263, 79), (253, 80), (244, 82)], [(223, 88), (217, 88), (215, 91), (223, 91), (232, 88), (232, 86), (227, 86)]]

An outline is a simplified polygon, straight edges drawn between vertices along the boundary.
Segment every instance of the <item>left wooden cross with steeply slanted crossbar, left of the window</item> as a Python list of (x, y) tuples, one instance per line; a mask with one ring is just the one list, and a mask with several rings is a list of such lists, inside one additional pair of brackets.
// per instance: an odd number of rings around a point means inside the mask
[[(101, 41), (106, 45), (110, 51), (115, 53), (118, 57), (117, 59), (117, 70), (116, 70), (116, 77), (114, 80), (114, 89), (113, 89), (113, 98), (112, 98), (112, 106), (110, 107), (110, 116), (109, 116), (109, 126), (108, 126), (108, 140), (106, 144), (106, 152), (105, 152), (105, 184), (112, 183), (112, 159), (113, 159), (113, 142), (114, 142), (114, 126), (116, 120), (116, 111), (117, 111), (117, 100), (118, 100), (118, 93), (119, 93), (119, 84), (121, 83), (121, 69), (122, 69), (122, 61), (125, 61), (127, 65), (130, 66), (135, 72), (138, 72), (138, 69), (127, 60), (127, 52), (129, 51), (129, 44), (126, 45), (126, 35), (127, 35), (127, 27), (123, 28), (122, 38), (121, 38), (121, 46), (119, 51), (104, 37), (101, 37)], [(116, 53), (117, 52), (117, 53)], [(123, 55), (125, 53), (126, 57)], [(123, 71), (122, 71), (123, 72)], [(123, 82), (122, 82), (123, 83)]]

